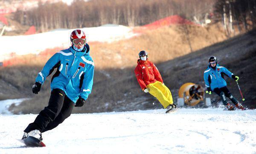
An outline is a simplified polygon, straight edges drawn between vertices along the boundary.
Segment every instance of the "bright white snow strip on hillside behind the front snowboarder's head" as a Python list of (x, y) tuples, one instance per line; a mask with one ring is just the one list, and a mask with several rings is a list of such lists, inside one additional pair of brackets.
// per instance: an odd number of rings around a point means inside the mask
[[(74, 29), (56, 29), (35, 35), (18, 35), (0, 37), (0, 58), (9, 54), (38, 54), (41, 51), (55, 47), (70, 46), (70, 34)], [(132, 28), (122, 25), (103, 25), (99, 27), (82, 28), (87, 41), (113, 42), (135, 36)], [(0, 59), (1, 60), (1, 59)]]

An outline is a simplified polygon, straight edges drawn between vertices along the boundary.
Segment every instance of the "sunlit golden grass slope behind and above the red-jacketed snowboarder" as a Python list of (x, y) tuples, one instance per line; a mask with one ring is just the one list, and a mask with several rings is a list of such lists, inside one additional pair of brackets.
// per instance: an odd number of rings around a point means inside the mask
[[(187, 29), (193, 51), (227, 39), (218, 23), (208, 28), (187, 25)], [(92, 44), (90, 47), (98, 69), (134, 67), (141, 50), (146, 50), (154, 62), (168, 61), (191, 52), (183, 26), (180, 25), (148, 30), (129, 40)]]

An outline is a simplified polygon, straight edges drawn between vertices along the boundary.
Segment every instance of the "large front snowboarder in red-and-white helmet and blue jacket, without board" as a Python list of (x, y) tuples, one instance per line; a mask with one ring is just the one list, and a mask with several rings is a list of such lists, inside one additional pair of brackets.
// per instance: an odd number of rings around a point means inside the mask
[(22, 139), (32, 136), (42, 140), (42, 132), (57, 127), (70, 116), (74, 106), (83, 106), (91, 93), (94, 63), (86, 36), (77, 29), (71, 33), (70, 41), (70, 48), (55, 53), (35, 79), (32, 92), (38, 94), (47, 76), (57, 68), (51, 80), (48, 106), (27, 126)]

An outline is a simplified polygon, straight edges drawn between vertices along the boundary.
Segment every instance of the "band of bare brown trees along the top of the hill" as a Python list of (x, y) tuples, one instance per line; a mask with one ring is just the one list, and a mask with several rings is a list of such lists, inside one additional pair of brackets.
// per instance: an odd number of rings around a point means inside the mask
[(106, 23), (139, 26), (175, 14), (201, 20), (212, 5), (212, 0), (74, 0), (70, 6), (62, 2), (39, 3), (38, 8), (15, 12), (15, 20), (35, 25), (42, 32)]

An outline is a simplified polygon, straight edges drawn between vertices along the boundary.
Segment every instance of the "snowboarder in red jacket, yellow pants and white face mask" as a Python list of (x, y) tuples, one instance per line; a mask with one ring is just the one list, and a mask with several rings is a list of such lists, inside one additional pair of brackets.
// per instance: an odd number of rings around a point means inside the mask
[(148, 60), (148, 53), (141, 51), (139, 53), (137, 67), (134, 70), (135, 76), (140, 84), (141, 89), (145, 93), (150, 93), (163, 105), (164, 108), (172, 110), (176, 105), (172, 100), (172, 93), (168, 87), (163, 84), (163, 79), (157, 67)]

